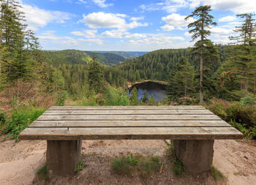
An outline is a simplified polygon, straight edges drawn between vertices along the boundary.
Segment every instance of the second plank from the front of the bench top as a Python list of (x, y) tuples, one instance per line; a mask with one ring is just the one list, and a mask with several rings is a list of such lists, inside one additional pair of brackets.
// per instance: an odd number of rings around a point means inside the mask
[(29, 127), (232, 127), (225, 121), (34, 121)]

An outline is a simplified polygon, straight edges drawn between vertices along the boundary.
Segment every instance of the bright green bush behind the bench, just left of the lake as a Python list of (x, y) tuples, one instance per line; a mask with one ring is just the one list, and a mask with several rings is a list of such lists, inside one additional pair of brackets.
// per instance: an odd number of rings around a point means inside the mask
[(124, 91), (108, 86), (105, 94), (105, 105), (129, 105), (128, 96)]

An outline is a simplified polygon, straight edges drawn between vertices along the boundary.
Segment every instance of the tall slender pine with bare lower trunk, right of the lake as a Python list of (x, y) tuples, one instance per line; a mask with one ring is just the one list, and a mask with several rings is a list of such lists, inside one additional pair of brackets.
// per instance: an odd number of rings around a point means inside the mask
[(214, 45), (207, 37), (211, 34), (211, 26), (216, 26), (217, 23), (213, 21), (213, 16), (209, 15), (211, 6), (197, 7), (191, 15), (187, 16), (185, 20), (196, 17), (197, 20), (189, 23), (189, 33), (192, 34), (192, 41), (199, 38), (193, 48), (193, 53), (200, 56), (200, 102), (203, 102), (203, 66), (206, 58), (206, 50), (214, 50)]

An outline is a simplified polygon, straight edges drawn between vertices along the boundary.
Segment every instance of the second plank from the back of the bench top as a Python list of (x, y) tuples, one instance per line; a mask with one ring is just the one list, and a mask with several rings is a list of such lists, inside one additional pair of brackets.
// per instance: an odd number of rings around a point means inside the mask
[(201, 109), (201, 110), (46, 110), (44, 115), (56, 115), (56, 114), (61, 114), (61, 115), (66, 115), (66, 114), (74, 114), (74, 115), (79, 115), (79, 114), (102, 114), (102, 115), (123, 115), (123, 114), (133, 114), (133, 115), (145, 115), (145, 114), (167, 114), (167, 115), (195, 115), (195, 114), (200, 114), (200, 115), (208, 115), (208, 114), (214, 114), (211, 113), (210, 110), (206, 109)]

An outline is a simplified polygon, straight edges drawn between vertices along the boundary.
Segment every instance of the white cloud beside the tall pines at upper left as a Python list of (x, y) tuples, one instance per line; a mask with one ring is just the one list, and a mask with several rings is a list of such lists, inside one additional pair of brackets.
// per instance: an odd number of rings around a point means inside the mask
[(51, 22), (64, 23), (65, 20), (69, 20), (73, 16), (68, 12), (43, 10), (29, 4), (22, 4), (22, 11), (25, 13), (28, 29), (34, 31), (39, 27), (45, 27)]

